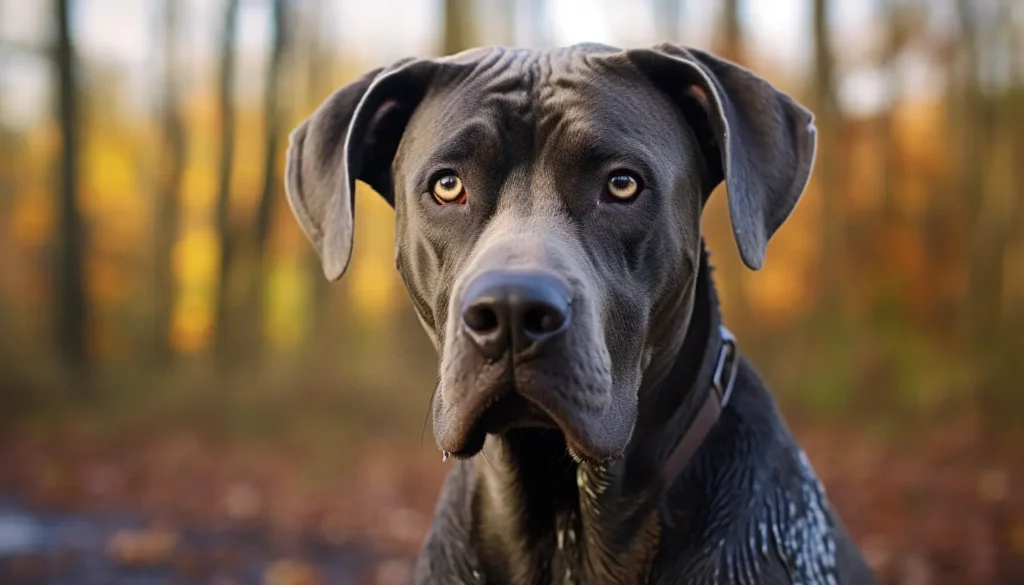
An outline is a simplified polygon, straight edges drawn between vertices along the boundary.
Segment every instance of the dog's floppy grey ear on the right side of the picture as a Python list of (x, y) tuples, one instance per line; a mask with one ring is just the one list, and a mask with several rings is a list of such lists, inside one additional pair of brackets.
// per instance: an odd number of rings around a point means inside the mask
[(739, 255), (761, 268), (768, 240), (810, 178), (814, 117), (750, 71), (699, 50), (663, 44), (629, 55), (687, 114), (712, 174), (706, 195), (725, 180)]

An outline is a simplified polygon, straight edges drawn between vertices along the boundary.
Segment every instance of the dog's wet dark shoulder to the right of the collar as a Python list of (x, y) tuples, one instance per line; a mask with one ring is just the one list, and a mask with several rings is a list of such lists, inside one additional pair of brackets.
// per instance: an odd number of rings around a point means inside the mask
[(657, 573), (686, 583), (865, 583), (842, 578), (859, 574), (841, 566), (859, 554), (848, 554), (807, 456), (745, 362), (733, 396), (669, 493)]

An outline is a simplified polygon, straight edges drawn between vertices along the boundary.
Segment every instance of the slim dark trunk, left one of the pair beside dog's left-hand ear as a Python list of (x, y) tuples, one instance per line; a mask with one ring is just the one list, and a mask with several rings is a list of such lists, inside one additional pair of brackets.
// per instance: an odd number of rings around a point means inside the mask
[(234, 260), (234, 236), (228, 216), (231, 199), (231, 169), (234, 166), (234, 53), (238, 42), (239, 0), (227, 0), (224, 29), (220, 39), (220, 170), (217, 183), (217, 235), (220, 263), (214, 307), (214, 350), (225, 358), (230, 342), (228, 287)]

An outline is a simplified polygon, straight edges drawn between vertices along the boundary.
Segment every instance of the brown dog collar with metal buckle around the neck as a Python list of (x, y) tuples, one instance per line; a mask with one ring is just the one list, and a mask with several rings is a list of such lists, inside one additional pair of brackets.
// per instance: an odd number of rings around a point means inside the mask
[(736, 338), (724, 325), (719, 326), (718, 359), (711, 377), (711, 388), (705, 398), (703, 405), (690, 422), (683, 437), (669, 455), (664, 472), (667, 484), (671, 484), (696, 454), (697, 449), (708, 437), (708, 433), (722, 416), (722, 411), (729, 404), (732, 386), (736, 383), (736, 372), (739, 360), (736, 351)]

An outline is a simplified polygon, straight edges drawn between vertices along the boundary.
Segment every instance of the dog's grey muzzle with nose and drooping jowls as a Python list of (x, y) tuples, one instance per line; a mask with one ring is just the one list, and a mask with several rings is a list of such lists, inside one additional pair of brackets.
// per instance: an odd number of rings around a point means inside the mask
[(614, 399), (600, 294), (557, 243), (493, 243), (455, 286), (432, 407), (442, 451), (469, 457), (517, 428), (559, 429), (594, 460), (625, 448), (633, 406)]

